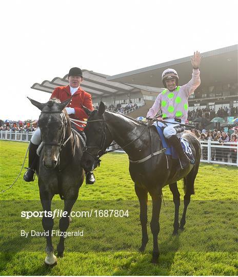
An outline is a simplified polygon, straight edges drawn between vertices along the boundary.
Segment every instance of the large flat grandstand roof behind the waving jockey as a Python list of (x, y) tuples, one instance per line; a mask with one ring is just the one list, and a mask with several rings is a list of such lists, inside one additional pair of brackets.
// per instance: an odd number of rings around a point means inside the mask
[[(203, 60), (200, 66), (202, 86), (215, 83), (237, 82), (237, 49), (238, 45), (228, 46), (213, 51), (202, 53)], [(169, 61), (113, 76), (108, 76), (108, 81), (126, 84), (163, 87), (162, 72), (173, 68), (178, 72), (180, 85), (186, 84), (191, 78), (190, 56)]]

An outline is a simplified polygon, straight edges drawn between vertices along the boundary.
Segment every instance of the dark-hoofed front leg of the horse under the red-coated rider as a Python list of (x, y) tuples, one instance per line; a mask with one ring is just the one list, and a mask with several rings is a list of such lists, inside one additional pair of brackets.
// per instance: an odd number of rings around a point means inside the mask
[[(60, 227), (61, 232), (66, 232), (69, 227), (69, 223), (71, 221), (70, 212), (71, 212), (71, 209), (72, 209), (76, 199), (77, 199), (77, 197), (75, 199), (66, 199), (65, 200), (64, 211), (66, 211), (67, 213), (66, 213), (66, 216), (62, 216), (60, 219), (59, 227)], [(61, 233), (61, 234), (63, 234), (63, 233)], [(65, 237), (64, 237), (64, 235), (61, 235), (60, 242), (57, 245), (57, 255), (59, 257), (63, 257), (64, 250), (65, 250)]]

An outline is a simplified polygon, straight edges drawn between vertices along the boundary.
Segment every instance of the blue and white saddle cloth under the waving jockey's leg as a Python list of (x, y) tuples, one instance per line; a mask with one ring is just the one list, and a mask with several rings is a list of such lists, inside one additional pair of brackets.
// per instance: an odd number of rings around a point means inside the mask
[[(172, 155), (172, 159), (176, 159), (177, 160), (178, 159), (178, 154), (177, 154), (177, 152), (176, 152), (176, 150), (174, 149), (173, 146), (169, 146), (168, 140), (164, 136), (162, 127), (159, 127), (159, 126), (155, 126), (155, 127), (157, 129), (158, 134), (160, 135), (163, 147), (166, 148), (165, 154), (166, 155)], [(181, 141), (182, 147), (184, 149), (184, 152), (186, 153), (186, 155), (188, 156), (189, 160), (191, 161), (191, 164), (194, 164), (195, 159), (194, 159), (194, 156), (192, 154), (192, 150), (191, 150), (191, 148), (189, 146), (188, 141), (185, 140), (185, 138), (183, 138), (183, 137), (180, 137), (180, 141)]]

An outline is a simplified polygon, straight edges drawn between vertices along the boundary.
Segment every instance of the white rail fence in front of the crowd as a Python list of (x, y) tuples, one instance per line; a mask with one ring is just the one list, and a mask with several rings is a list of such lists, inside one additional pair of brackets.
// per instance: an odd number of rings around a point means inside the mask
[[(11, 132), (0, 131), (1, 140), (30, 142), (33, 132)], [(238, 143), (228, 142), (219, 143), (208, 141), (200, 141), (201, 144), (201, 162), (233, 165), (238, 166)], [(118, 148), (118, 145), (110, 147), (110, 150)], [(123, 149), (116, 150), (115, 152), (125, 153)]]

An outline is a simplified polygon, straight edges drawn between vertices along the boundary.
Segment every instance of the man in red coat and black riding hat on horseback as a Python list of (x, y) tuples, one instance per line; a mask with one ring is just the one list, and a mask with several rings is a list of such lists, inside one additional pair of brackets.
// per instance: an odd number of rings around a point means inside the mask
[[(85, 92), (80, 87), (80, 84), (83, 81), (83, 72), (80, 68), (73, 67), (69, 70), (68, 75), (69, 85), (66, 87), (56, 87), (51, 95), (50, 98), (58, 98), (61, 102), (66, 101), (67, 99), (71, 98), (70, 103), (65, 108), (69, 117), (74, 118), (76, 120), (85, 121), (84, 118), (88, 118), (88, 115), (85, 113), (84, 109), (81, 107), (81, 104), (83, 104), (86, 108), (89, 110), (93, 110), (92, 105), (92, 98), (91, 94)], [(75, 129), (78, 133), (81, 134), (81, 136), (86, 141), (86, 135), (83, 131), (83, 128), (74, 126), (72, 124), (71, 126), (73, 129)], [(41, 144), (41, 130), (38, 128), (33, 136), (31, 137), (31, 141), (29, 144), (29, 161), (28, 161), (28, 170), (24, 174), (24, 180), (26, 182), (32, 182), (36, 167), (36, 150), (37, 147)], [(95, 182), (95, 177), (93, 172), (89, 171), (86, 172), (86, 184), (93, 184)]]

